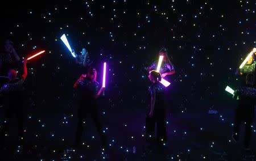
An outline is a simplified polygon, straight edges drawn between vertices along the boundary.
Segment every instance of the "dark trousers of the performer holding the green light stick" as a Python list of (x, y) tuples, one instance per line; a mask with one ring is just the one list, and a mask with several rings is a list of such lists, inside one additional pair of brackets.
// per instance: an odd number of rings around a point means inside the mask
[[(253, 117), (251, 117), (250, 115), (251, 115), (251, 113), (248, 113), (248, 115), (246, 115), (246, 113), (240, 109), (236, 109), (236, 112), (235, 112), (233, 136), (235, 139), (237, 139), (237, 140), (239, 139), (240, 125), (244, 124), (245, 125), (245, 140), (244, 140), (245, 148), (248, 148), (250, 145), (251, 133), (253, 131), (253, 128), (251, 127), (251, 125), (253, 125)], [(244, 123), (244, 122), (246, 122), (246, 123)]]

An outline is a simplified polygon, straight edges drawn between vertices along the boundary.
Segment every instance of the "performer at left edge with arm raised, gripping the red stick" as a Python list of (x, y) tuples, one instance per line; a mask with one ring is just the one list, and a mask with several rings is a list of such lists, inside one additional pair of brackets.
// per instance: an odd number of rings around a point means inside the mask
[(23, 82), (27, 77), (27, 60), (23, 62), (22, 77), (16, 79), (17, 72), (11, 69), (8, 73), (9, 82), (3, 84), (0, 95), (4, 97), (4, 107), (7, 108), (6, 123), (3, 124), (2, 132), (0, 134), (0, 142), (3, 143), (4, 136), (13, 115), (15, 115), (18, 122), (18, 139), (23, 139)]

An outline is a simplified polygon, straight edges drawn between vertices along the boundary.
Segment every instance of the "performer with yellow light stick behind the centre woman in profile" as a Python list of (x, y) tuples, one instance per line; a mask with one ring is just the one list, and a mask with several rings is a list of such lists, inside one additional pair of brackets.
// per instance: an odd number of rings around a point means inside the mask
[[(166, 48), (162, 48), (159, 51), (159, 56), (164, 56), (163, 58), (163, 63), (162, 66), (160, 67), (160, 74), (161, 76), (164, 78), (167, 75), (172, 75), (175, 74), (175, 69), (174, 69), (174, 65), (171, 63), (169, 57), (168, 57), (168, 52)], [(148, 67), (147, 69), (149, 71), (151, 70), (156, 70), (156, 67), (158, 65), (158, 62), (154, 62), (150, 67)]]

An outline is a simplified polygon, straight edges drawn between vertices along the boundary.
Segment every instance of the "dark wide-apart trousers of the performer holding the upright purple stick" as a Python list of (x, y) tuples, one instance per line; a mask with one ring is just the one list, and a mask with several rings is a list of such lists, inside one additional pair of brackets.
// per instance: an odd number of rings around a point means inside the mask
[(106, 138), (103, 133), (103, 128), (98, 115), (97, 107), (80, 107), (79, 113), (78, 113), (79, 122), (77, 124), (75, 144), (78, 145), (79, 142), (81, 141), (82, 131), (84, 128), (84, 121), (88, 114), (90, 114), (90, 116), (92, 117), (93, 122), (96, 125), (97, 131), (101, 137), (102, 144), (105, 146)]

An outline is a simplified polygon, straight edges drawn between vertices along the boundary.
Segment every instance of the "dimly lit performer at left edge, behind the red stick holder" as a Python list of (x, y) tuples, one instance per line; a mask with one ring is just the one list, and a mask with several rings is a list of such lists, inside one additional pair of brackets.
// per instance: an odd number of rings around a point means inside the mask
[(10, 69), (17, 70), (19, 56), (10, 40), (5, 41), (5, 53), (0, 54), (0, 74), (5, 75)]

